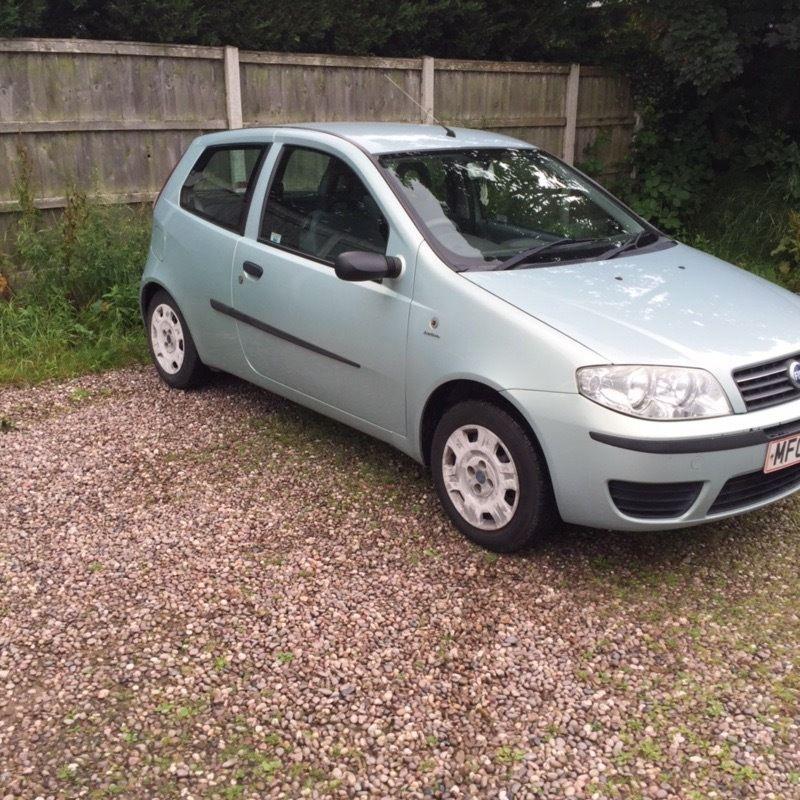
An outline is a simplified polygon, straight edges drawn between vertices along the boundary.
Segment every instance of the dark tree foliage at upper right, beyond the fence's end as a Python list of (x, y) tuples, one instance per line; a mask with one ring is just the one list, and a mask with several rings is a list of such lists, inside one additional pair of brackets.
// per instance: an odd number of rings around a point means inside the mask
[(800, 202), (800, 0), (625, 0), (643, 127), (629, 199), (681, 230), (720, 172)]

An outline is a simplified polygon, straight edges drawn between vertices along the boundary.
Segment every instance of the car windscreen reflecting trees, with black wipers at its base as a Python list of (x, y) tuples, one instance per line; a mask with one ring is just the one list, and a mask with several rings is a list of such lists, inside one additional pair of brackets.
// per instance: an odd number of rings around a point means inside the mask
[(451, 266), (489, 269), (549, 244), (542, 258), (576, 260), (642, 233), (636, 218), (556, 159), (533, 149), (383, 156)]

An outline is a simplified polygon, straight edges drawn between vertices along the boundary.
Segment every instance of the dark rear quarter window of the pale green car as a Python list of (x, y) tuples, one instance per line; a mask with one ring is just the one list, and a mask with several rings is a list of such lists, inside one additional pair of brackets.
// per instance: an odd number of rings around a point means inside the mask
[(242, 233), (266, 145), (209, 147), (181, 188), (181, 207)]

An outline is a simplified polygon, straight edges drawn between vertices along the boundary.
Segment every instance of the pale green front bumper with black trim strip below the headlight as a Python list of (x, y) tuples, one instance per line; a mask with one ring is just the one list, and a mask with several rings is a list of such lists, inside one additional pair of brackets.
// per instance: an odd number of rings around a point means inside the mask
[[(733, 507), (716, 502), (729, 480), (761, 472), (775, 431), (788, 435), (793, 423), (800, 430), (800, 400), (748, 414), (665, 422), (627, 417), (579, 394), (515, 389), (504, 394), (539, 439), (566, 522), (612, 530), (683, 528), (760, 508), (800, 489), (798, 477), (754, 501), (744, 492)], [(610, 481), (700, 485), (685, 512), (644, 518), (617, 508)]]

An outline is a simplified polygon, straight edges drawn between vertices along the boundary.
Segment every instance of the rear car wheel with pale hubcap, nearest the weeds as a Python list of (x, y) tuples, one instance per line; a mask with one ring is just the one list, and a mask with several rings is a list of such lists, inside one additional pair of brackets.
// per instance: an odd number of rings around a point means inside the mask
[(178, 304), (159, 289), (147, 306), (147, 343), (161, 380), (173, 389), (194, 389), (208, 378)]

